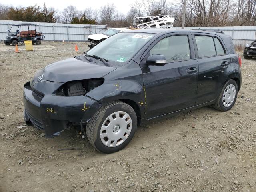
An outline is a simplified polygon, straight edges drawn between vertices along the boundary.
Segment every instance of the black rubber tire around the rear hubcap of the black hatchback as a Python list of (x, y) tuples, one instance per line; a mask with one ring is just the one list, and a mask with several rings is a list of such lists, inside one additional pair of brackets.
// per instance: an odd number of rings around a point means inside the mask
[[(235, 94), (235, 98), (234, 98), (232, 104), (231, 104), (230, 106), (227, 106), (227, 107), (226, 107), (226, 106), (224, 106), (224, 104), (223, 104), (223, 101), (224, 101), (224, 100), (222, 100), (222, 97), (223, 97), (223, 95), (224, 95), (224, 91), (226, 91), (226, 88), (227, 88), (228, 86), (231, 86), (231, 85), (233, 85), (234, 88), (236, 89), (236, 94)], [(213, 107), (214, 107), (216, 110), (219, 110), (219, 111), (228, 111), (228, 110), (230, 110), (230, 109), (234, 106), (234, 104), (235, 104), (235, 102), (236, 102), (237, 92), (238, 92), (238, 86), (237, 86), (236, 81), (233, 80), (233, 79), (228, 80), (228, 82), (226, 82), (226, 84), (223, 86), (222, 91), (220, 92), (220, 96), (218, 97), (218, 100), (216, 101), (216, 103), (214, 104)]]

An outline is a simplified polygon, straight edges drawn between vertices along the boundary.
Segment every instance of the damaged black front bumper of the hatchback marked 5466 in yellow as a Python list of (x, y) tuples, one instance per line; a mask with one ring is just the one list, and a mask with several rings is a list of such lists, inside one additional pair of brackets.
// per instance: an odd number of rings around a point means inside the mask
[[(51, 82), (41, 82), (52, 87)], [(58, 85), (59, 86), (59, 85)], [(30, 86), (24, 85), (24, 120), (45, 132), (48, 138), (58, 136), (68, 125), (86, 124), (102, 106), (100, 102), (88, 96), (56, 96), (42, 94)]]

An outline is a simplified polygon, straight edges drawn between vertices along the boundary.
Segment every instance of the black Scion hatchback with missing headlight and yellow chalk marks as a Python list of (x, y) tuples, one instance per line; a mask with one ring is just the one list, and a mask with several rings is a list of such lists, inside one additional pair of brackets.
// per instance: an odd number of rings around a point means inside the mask
[(24, 119), (46, 137), (80, 126), (97, 150), (116, 152), (138, 125), (207, 105), (230, 110), (241, 87), (240, 67), (225, 34), (120, 32), (38, 71), (24, 85)]

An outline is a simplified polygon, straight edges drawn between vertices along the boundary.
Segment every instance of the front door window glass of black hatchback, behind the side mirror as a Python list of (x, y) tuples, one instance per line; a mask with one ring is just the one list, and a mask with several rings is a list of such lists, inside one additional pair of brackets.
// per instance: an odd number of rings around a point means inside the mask
[(190, 59), (188, 36), (170, 36), (160, 40), (149, 52), (166, 56), (166, 62)]

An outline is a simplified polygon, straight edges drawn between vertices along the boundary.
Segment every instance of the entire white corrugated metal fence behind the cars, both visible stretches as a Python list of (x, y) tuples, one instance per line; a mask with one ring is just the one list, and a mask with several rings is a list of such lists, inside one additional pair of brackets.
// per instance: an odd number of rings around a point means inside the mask
[[(7, 30), (12, 24), (30, 23), (22, 21), (6, 21), (0, 20), (0, 40), (4, 40), (7, 36)], [(88, 35), (103, 33), (106, 30), (105, 25), (76, 25), (62, 23), (40, 23), (33, 22), (38, 25), (37, 30), (42, 31), (45, 40), (50, 41), (86, 41)], [(174, 27), (178, 29), (180, 27)], [(198, 27), (186, 27), (186, 29), (197, 29)], [(234, 27), (200, 27), (200, 30), (221, 30), (225, 34), (232, 37), (234, 44), (246, 44), (255, 40), (256, 26), (234, 26)]]

